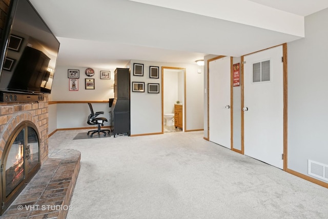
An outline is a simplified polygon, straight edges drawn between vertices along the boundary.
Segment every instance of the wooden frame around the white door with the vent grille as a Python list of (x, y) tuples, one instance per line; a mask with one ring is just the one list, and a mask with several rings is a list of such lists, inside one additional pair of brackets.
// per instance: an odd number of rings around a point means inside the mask
[[(271, 48), (275, 48), (278, 46), (282, 46), (282, 62), (283, 62), (283, 170), (287, 170), (287, 158), (288, 158), (288, 65), (287, 65), (287, 44), (280, 44), (277, 46), (273, 46), (267, 49), (259, 50), (256, 52), (252, 52), (249, 54), (245, 54), (241, 56), (241, 109), (244, 107), (244, 56), (251, 55), (257, 52), (261, 52), (264, 50), (268, 50)], [(241, 110), (241, 153), (244, 154), (244, 112)]]

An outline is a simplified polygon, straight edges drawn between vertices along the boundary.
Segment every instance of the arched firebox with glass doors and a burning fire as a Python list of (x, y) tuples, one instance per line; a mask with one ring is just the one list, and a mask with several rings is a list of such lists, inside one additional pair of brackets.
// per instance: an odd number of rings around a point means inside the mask
[(16, 126), (9, 136), (1, 158), (0, 215), (40, 169), (39, 151), (36, 126), (30, 121)]

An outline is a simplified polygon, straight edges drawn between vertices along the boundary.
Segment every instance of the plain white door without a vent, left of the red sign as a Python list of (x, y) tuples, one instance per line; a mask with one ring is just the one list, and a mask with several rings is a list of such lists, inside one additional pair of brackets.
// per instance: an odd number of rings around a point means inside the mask
[(231, 147), (230, 57), (209, 63), (209, 138), (211, 142)]

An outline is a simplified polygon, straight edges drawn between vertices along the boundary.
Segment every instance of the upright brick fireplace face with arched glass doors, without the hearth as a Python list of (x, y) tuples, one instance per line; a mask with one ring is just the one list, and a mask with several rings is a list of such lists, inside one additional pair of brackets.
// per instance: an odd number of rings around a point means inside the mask
[(47, 98), (0, 105), (1, 214), (48, 158)]

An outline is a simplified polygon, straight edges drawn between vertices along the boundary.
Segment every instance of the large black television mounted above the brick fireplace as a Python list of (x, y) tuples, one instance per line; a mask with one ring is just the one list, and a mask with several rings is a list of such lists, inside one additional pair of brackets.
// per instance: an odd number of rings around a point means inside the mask
[(57, 38), (28, 0), (11, 0), (2, 13), (7, 16), (0, 27), (0, 92), (50, 94)]

